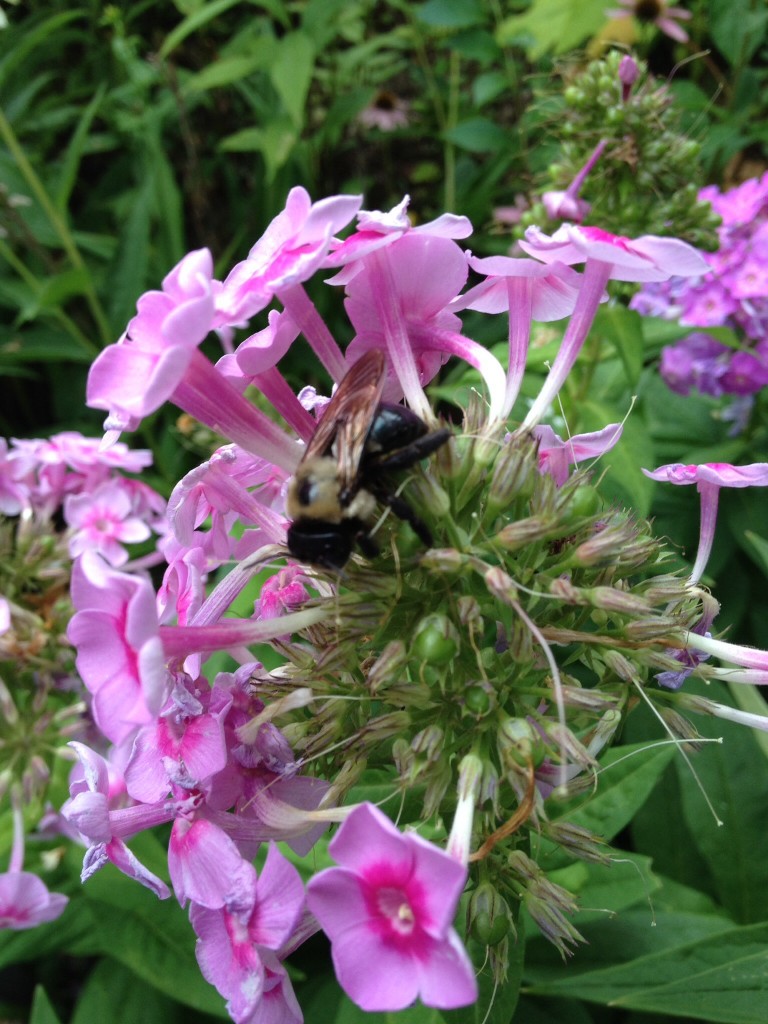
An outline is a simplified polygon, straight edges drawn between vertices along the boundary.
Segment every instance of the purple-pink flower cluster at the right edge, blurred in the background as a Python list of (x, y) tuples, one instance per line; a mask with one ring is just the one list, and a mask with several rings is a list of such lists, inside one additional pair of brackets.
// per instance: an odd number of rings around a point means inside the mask
[(720, 248), (705, 254), (710, 269), (647, 284), (631, 305), (690, 327), (728, 327), (744, 339), (730, 348), (696, 332), (665, 348), (662, 376), (673, 391), (754, 394), (768, 384), (768, 173), (725, 193), (709, 185), (698, 196), (723, 220)]

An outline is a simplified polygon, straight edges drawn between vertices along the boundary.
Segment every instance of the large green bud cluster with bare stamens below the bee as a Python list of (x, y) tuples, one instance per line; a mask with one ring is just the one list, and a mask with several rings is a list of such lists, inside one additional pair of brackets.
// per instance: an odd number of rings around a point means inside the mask
[(293, 665), (275, 690), (308, 687), (314, 699), (279, 724), (298, 758), (336, 780), (335, 798), (388, 793), (406, 820), (446, 829), (459, 766), (480, 766), (472, 879), (478, 893), (490, 879), (496, 895), (482, 890), (470, 924), (497, 943), (501, 977), (504, 907), (526, 906), (560, 949), (578, 938), (572, 901), (531, 852), (546, 837), (605, 859), (597, 838), (561, 820), (561, 800), (594, 788), (639, 688), (666, 707), (654, 675), (679, 664), (670, 652), (705, 595), (668, 571), (646, 520), (604, 506), (587, 472), (559, 487), (543, 475), (530, 435), (473, 425), (440, 455), (402, 492), (435, 546), (415, 548), (407, 524), (385, 517), (380, 556), (354, 557), (318, 599), (333, 614), (284, 648)]

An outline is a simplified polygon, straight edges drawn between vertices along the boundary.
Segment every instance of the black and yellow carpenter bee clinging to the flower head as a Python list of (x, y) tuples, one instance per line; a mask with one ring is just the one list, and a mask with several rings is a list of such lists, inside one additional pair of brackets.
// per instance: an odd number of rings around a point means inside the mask
[(404, 406), (381, 401), (384, 354), (366, 352), (336, 389), (288, 485), (288, 550), (299, 561), (340, 569), (355, 544), (378, 553), (370, 521), (381, 502), (409, 522), (429, 547), (432, 538), (392, 489), (390, 474), (436, 452), (450, 430), (429, 432)]

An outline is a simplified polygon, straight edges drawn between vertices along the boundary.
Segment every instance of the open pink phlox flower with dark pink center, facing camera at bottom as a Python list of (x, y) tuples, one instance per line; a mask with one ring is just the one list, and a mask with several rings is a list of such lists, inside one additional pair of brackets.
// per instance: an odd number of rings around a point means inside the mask
[(474, 1002), (472, 964), (452, 927), (466, 868), (371, 804), (352, 811), (329, 852), (341, 866), (310, 880), (307, 903), (347, 995), (383, 1012), (417, 998), (441, 1010)]

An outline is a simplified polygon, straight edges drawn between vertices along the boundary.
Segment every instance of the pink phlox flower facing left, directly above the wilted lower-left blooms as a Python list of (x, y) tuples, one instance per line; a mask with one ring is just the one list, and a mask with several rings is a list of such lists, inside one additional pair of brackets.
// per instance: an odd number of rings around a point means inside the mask
[(67, 636), (77, 648), (78, 672), (93, 695), (96, 724), (119, 743), (151, 722), (167, 695), (155, 591), (148, 580), (86, 552), (73, 568), (72, 600)]

